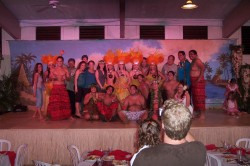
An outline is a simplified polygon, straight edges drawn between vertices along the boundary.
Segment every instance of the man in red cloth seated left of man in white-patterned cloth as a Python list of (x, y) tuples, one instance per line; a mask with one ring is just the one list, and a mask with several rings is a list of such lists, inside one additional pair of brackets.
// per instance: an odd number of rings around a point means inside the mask
[(100, 100), (97, 102), (97, 108), (100, 113), (100, 119), (105, 122), (114, 121), (118, 119), (117, 109), (118, 109), (118, 99), (113, 94), (114, 87), (109, 85), (106, 87), (106, 93), (100, 95)]

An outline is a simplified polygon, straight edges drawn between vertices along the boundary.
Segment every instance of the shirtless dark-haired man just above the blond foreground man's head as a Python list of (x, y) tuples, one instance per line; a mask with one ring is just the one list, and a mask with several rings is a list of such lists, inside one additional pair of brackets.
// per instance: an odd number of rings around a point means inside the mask
[(179, 82), (175, 80), (175, 73), (173, 71), (169, 71), (168, 79), (163, 83), (163, 100), (174, 99), (174, 95), (177, 91), (177, 87)]

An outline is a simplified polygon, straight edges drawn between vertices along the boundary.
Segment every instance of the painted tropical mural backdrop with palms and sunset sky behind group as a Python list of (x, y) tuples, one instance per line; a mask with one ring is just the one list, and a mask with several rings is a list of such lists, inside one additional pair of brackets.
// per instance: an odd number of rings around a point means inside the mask
[[(183, 50), (195, 49), (206, 66), (206, 103), (208, 105), (221, 104), (224, 99), (225, 85), (232, 77), (230, 60), (231, 44), (234, 40), (84, 40), (84, 41), (9, 41), (12, 70), (19, 71), (19, 79), (29, 84), (32, 78), (32, 70), (35, 63), (41, 62), (42, 55), (59, 55), (64, 50), (65, 62), (69, 58), (75, 58), (76, 64), (80, 62), (83, 54), (89, 59), (97, 62), (102, 59), (107, 50), (140, 49), (145, 57), (156, 50), (165, 55), (165, 60), (158, 66), (161, 70), (167, 61), (168, 55), (176, 57), (175, 63), (179, 60), (177, 53)], [(188, 56), (187, 56), (188, 57)], [(45, 66), (46, 67), (46, 66)], [(44, 67), (44, 68), (45, 68)], [(127, 65), (130, 69), (131, 64)]]

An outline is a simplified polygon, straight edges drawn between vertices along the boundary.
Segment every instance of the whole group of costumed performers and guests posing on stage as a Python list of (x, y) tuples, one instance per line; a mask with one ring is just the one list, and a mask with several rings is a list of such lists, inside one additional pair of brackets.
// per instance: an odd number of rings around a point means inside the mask
[[(51, 120), (159, 121), (163, 102), (174, 99), (188, 107), (194, 117), (204, 119), (205, 66), (196, 50), (188, 55), (191, 62), (184, 51), (179, 51), (178, 65), (169, 55), (161, 70), (158, 64), (164, 56), (158, 52), (143, 57), (140, 50), (109, 50), (98, 64), (83, 55), (77, 67), (73, 58), (65, 65), (63, 56), (43, 56), (47, 70), (43, 72), (42, 63), (37, 63), (33, 74), (34, 118), (38, 114), (44, 119), (43, 108)], [(132, 63), (131, 70), (127, 63)], [(226, 95), (232, 99), (230, 93)], [(228, 104), (224, 105), (227, 109)], [(237, 108), (230, 111), (238, 113)]]

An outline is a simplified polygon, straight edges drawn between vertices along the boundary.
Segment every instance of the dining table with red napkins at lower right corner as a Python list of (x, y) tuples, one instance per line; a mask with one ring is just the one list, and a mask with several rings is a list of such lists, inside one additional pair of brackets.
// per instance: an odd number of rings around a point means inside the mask
[[(208, 146), (206, 146), (208, 147)], [(237, 151), (241, 150), (241, 161), (239, 160), (239, 156), (237, 156)], [(212, 154), (216, 156), (219, 159), (219, 162), (221, 163), (221, 166), (250, 166), (250, 149), (244, 149), (244, 148), (230, 148), (225, 149), (223, 147), (216, 147), (214, 148), (207, 148), (207, 154)], [(210, 163), (212, 166), (216, 165), (216, 160), (212, 160)], [(208, 164), (206, 164), (208, 165)]]

